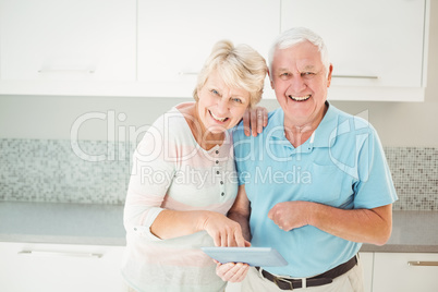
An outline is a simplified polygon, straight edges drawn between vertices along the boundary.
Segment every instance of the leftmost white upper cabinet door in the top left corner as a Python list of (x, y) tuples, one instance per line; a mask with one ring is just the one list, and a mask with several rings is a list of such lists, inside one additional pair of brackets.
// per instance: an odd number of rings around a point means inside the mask
[(2, 81), (135, 81), (135, 0), (0, 0)]

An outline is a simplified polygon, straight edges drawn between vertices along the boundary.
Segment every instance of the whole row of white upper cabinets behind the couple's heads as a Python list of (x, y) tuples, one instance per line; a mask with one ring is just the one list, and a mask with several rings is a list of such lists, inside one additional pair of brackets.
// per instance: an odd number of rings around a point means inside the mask
[[(220, 39), (325, 39), (331, 100), (422, 101), (430, 0), (0, 0), (0, 95), (192, 97)], [(275, 98), (267, 78), (264, 98)]]

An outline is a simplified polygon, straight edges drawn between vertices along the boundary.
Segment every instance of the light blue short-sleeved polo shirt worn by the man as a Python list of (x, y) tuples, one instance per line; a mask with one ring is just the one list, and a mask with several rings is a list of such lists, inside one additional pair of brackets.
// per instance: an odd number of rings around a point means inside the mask
[(251, 202), (252, 246), (271, 246), (288, 260), (266, 270), (312, 277), (352, 258), (361, 243), (313, 226), (283, 231), (268, 218), (280, 202), (307, 200), (342, 209), (375, 208), (397, 200), (391, 173), (374, 127), (365, 120), (329, 106), (304, 144), (294, 148), (284, 136), (284, 112), (269, 113), (267, 127), (247, 137), (234, 131), (239, 183)]

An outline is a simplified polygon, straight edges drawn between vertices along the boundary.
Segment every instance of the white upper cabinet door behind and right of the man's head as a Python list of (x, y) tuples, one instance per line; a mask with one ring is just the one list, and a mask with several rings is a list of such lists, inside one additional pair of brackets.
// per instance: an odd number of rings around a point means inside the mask
[(282, 0), (281, 31), (305, 26), (329, 50), (331, 99), (424, 99), (427, 0)]

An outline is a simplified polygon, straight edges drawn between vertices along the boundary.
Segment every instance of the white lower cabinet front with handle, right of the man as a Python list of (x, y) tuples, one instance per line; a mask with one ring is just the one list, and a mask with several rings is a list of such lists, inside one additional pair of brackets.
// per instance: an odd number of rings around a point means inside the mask
[(436, 292), (438, 254), (375, 253), (373, 292)]

